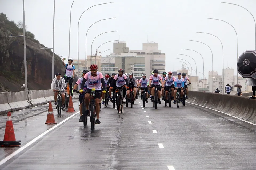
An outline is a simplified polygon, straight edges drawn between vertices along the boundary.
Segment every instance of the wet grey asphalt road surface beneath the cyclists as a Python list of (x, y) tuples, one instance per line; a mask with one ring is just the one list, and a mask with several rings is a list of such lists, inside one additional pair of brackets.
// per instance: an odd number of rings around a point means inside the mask
[[(168, 108), (162, 102), (157, 109), (151, 102), (142, 105), (139, 99), (122, 114), (102, 106), (101, 124), (93, 131), (83, 127), (77, 113), (0, 169), (256, 169), (254, 125), (189, 103)], [(47, 109), (45, 104), (12, 113), (22, 145), (0, 147), (0, 161), (56, 125), (44, 124)], [(53, 110), (58, 123), (74, 114), (58, 117)], [(0, 116), (0, 140), (5, 123), (6, 115)]]

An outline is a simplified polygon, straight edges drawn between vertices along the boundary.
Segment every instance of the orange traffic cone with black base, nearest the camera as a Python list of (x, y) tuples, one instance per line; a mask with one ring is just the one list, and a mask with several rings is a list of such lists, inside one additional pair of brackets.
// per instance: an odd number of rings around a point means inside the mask
[(5, 126), (5, 136), (3, 141), (0, 141), (0, 146), (20, 146), (21, 141), (16, 141), (14, 129), (13, 129), (13, 121), (11, 120), (11, 112), (7, 114), (7, 121)]

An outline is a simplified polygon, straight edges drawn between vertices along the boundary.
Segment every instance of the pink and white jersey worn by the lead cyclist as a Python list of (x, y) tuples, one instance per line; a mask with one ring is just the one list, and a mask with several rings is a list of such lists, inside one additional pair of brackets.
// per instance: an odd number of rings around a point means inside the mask
[(91, 72), (88, 72), (83, 78), (86, 79), (88, 89), (95, 88), (96, 90), (101, 90), (101, 79), (103, 78), (101, 72), (97, 71), (95, 77), (91, 75)]

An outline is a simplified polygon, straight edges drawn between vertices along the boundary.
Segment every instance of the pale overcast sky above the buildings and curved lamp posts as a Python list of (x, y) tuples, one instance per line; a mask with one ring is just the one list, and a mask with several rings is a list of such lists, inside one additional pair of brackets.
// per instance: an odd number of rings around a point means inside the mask
[[(0, 12), (7, 15), (9, 20), (16, 23), (22, 20), (22, 0), (0, 0)], [(51, 48), (53, 38), (53, 0), (25, 0), (25, 24), (28, 31), (35, 35), (40, 43)], [(69, 17), (73, 0), (55, 1), (55, 38), (54, 53), (68, 56), (69, 47)], [(118, 32), (100, 35), (94, 40), (93, 51), (106, 41), (126, 41), (129, 50), (141, 50), (142, 43), (154, 41), (158, 43), (159, 50), (166, 53), (166, 71), (181, 68), (180, 60), (189, 61), (195, 70), (194, 61), (197, 62), (197, 71), (203, 72), (202, 58), (193, 49), (202, 54), (205, 62), (205, 75), (212, 70), (212, 57), (210, 49), (201, 43), (189, 40), (202, 41), (213, 51), (213, 70), (222, 74), (222, 47), (224, 48), (224, 68), (232, 67), (236, 75), (236, 35), (234, 29), (225, 22), (207, 19), (216, 18), (229, 22), (237, 31), (238, 57), (245, 50), (255, 49), (255, 26), (249, 12), (245, 9), (223, 4), (223, 0), (75, 0), (71, 14), (70, 57), (77, 58), (77, 25), (80, 15), (90, 6), (98, 3), (114, 2), (99, 5), (87, 10), (79, 23), (79, 59), (85, 59), (85, 35), (87, 29), (94, 22), (109, 19), (94, 24), (87, 35), (87, 55), (91, 52), (91, 42), (100, 33), (117, 30)], [(226, 0), (225, 2), (241, 5), (255, 16), (255, 0)], [(147, 39), (148, 37), (148, 39)], [(113, 43), (106, 43), (99, 50), (113, 48)], [(95, 52), (93, 52), (94, 54)], [(105, 52), (104, 56), (109, 52)], [(202, 78), (202, 74), (198, 73)]]

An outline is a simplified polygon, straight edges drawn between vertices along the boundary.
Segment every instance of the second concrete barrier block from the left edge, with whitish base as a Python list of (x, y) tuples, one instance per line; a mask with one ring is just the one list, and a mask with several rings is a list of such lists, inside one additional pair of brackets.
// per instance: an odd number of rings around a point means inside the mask
[(11, 111), (26, 109), (31, 106), (28, 101), (28, 94), (26, 91), (7, 92), (8, 103)]

